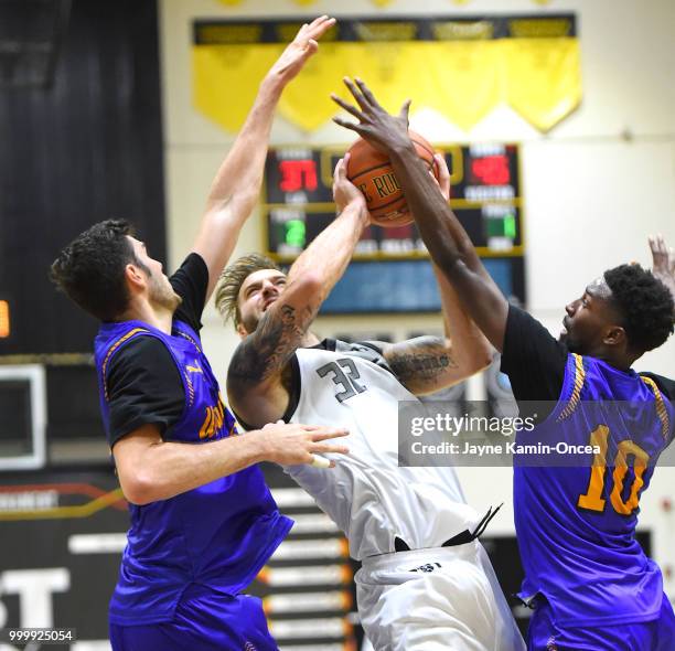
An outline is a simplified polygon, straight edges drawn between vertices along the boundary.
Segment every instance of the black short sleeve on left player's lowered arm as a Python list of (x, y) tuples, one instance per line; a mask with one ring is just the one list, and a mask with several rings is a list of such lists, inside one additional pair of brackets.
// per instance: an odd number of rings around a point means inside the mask
[(160, 434), (183, 413), (185, 392), (171, 353), (154, 337), (139, 337), (111, 360), (107, 377), (110, 448), (142, 425)]

